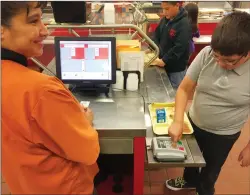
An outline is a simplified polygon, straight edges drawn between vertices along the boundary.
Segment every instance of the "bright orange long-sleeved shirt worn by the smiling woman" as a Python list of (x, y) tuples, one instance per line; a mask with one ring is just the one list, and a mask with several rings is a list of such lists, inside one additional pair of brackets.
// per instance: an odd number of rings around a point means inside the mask
[(92, 194), (98, 134), (55, 77), (2, 60), (2, 174), (13, 194)]

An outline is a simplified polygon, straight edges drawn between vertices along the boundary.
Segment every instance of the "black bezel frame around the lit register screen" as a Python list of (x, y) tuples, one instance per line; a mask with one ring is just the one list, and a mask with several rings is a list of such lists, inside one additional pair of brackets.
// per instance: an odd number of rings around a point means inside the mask
[[(110, 41), (111, 80), (63, 80), (61, 72), (60, 41)], [(56, 76), (65, 84), (115, 84), (116, 83), (116, 38), (115, 37), (55, 37)]]

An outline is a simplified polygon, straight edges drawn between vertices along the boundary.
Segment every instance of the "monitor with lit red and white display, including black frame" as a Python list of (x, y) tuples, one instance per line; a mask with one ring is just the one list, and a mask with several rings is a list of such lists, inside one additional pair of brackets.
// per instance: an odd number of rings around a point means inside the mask
[(57, 76), (64, 83), (115, 83), (114, 37), (56, 37)]

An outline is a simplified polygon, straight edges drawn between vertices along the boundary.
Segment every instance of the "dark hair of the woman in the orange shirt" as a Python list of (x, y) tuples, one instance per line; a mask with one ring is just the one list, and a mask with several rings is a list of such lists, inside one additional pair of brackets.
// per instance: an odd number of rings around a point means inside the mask
[[(11, 19), (26, 10), (29, 14), (32, 1), (2, 1), (1, 2), (1, 25), (10, 26)], [(35, 8), (44, 8), (47, 5), (46, 1), (36, 1)]]

